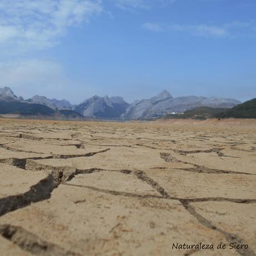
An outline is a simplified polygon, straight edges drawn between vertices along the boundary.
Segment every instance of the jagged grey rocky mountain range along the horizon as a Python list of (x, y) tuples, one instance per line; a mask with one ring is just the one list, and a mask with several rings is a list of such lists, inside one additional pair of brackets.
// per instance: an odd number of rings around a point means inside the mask
[[(176, 97), (170, 95), (166, 90), (162, 91), (158, 95), (147, 100), (136, 100), (132, 104), (127, 103), (122, 97), (99, 97), (97, 95), (87, 99), (81, 104), (72, 105), (67, 100), (48, 99), (45, 96), (33, 96), (31, 99), (24, 100), (21, 96), (17, 97), (9, 87), (0, 88), (0, 113), (3, 114), (4, 102), (12, 102), (12, 109), (18, 111), (17, 102), (22, 103), (22, 109), (24, 107), (29, 108), (29, 111), (33, 109), (34, 105), (48, 107), (48, 111), (45, 112), (58, 112), (71, 114), (84, 117), (93, 118), (118, 118), (122, 120), (143, 120), (152, 119), (154, 117), (164, 116), (170, 112), (184, 112), (186, 110), (194, 109), (195, 107), (208, 106), (218, 108), (231, 108), (241, 102), (234, 99), (222, 99), (216, 97), (199, 97), (199, 96), (185, 96)], [(15, 103), (16, 102), (16, 103)], [(13, 105), (14, 104), (14, 105)], [(25, 105), (24, 105), (25, 104)], [(27, 104), (30, 104), (28, 106)], [(11, 106), (11, 105), (10, 105)], [(8, 112), (7, 103), (4, 107), (4, 113)], [(22, 114), (22, 111), (18, 111)], [(32, 111), (33, 112), (33, 111)], [(43, 114), (42, 114), (43, 115)]]

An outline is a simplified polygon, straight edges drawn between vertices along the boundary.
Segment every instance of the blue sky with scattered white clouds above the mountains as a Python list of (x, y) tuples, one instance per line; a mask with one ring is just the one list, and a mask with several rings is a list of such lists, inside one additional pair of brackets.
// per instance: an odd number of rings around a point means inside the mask
[(255, 0), (0, 0), (0, 87), (73, 104), (256, 97)]

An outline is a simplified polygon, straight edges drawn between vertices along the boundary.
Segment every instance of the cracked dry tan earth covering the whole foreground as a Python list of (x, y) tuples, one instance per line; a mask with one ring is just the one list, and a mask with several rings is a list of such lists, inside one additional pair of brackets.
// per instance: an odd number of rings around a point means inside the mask
[(256, 255), (255, 127), (1, 119), (0, 254)]

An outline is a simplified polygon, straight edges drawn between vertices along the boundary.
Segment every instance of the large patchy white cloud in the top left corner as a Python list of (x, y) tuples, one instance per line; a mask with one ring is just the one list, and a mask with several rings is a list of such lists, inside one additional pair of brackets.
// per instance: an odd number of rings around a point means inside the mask
[(101, 0), (1, 0), (0, 43), (51, 47), (67, 27), (101, 11)]

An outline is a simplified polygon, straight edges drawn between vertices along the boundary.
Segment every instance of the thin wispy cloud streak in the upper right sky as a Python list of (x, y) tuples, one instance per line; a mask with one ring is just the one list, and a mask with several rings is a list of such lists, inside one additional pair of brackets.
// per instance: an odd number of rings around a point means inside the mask
[(144, 23), (142, 28), (152, 32), (186, 32), (195, 36), (225, 37), (232, 35), (255, 34), (255, 22), (232, 22), (222, 26), (212, 26), (207, 24), (184, 25), (184, 24), (160, 24)]

